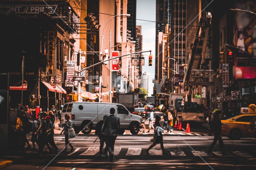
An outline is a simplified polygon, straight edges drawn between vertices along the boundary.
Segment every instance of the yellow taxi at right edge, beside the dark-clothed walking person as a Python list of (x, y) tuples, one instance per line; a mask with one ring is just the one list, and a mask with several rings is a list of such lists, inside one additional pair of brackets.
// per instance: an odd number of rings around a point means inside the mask
[(250, 128), (250, 121), (256, 114), (241, 114), (228, 119), (221, 120), (222, 135), (230, 139), (240, 139), (241, 137), (254, 137), (256, 128)]

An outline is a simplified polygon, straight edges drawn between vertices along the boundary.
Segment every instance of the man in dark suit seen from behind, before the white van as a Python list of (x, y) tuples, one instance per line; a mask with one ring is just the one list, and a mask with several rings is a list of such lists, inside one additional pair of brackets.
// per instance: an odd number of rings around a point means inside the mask
[(115, 109), (110, 109), (110, 115), (105, 118), (102, 126), (102, 133), (106, 139), (106, 147), (109, 153), (109, 160), (114, 159), (114, 145), (117, 137), (118, 129), (120, 129), (120, 119), (114, 115)]

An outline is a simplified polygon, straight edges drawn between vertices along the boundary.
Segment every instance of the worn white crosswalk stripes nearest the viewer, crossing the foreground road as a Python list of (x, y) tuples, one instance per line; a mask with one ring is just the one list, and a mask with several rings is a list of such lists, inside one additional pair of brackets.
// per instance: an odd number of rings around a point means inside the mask
[[(120, 156), (138, 156), (138, 155), (145, 155), (144, 152), (142, 152), (144, 149), (142, 148), (120, 148), (115, 147), (114, 148), (114, 155), (120, 155)], [(63, 152), (63, 154), (66, 155), (72, 155), (72, 156), (98, 156), (100, 152), (99, 147), (89, 147), (89, 148), (76, 148), (73, 152)], [(162, 155), (161, 149), (150, 149), (149, 150), (150, 155)], [(192, 153), (192, 154), (191, 154)], [(222, 156), (222, 153), (220, 151), (213, 151), (212, 155), (208, 155), (207, 151), (202, 150), (170, 150), (168, 151), (169, 156), (202, 156), (202, 157), (212, 157), (212, 156), (218, 156), (218, 157), (244, 157), (244, 158), (251, 158), (253, 155), (246, 153), (246, 152), (240, 152), (240, 151), (232, 151), (228, 153), (226, 156)]]

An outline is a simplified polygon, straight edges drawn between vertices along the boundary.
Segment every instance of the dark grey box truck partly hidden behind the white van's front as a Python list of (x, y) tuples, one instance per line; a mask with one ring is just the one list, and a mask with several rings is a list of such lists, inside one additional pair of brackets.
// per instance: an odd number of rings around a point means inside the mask
[(130, 113), (134, 111), (135, 107), (138, 107), (138, 100), (138, 93), (127, 93), (117, 95), (117, 103), (124, 105), (130, 111)]

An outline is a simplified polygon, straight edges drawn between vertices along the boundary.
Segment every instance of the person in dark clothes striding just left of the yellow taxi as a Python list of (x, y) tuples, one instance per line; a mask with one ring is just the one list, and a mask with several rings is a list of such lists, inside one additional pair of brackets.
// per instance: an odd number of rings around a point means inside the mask
[(221, 117), (221, 111), (216, 111), (213, 115), (213, 120), (210, 123), (210, 133), (214, 133), (214, 140), (212, 142), (212, 145), (210, 146), (210, 148), (208, 149), (208, 154), (212, 154), (212, 149), (213, 147), (216, 145), (217, 141), (219, 141), (219, 147), (220, 150), (222, 152), (222, 155), (226, 155), (226, 152), (224, 150), (224, 143), (221, 137), (221, 121), (220, 121), (220, 117)]

